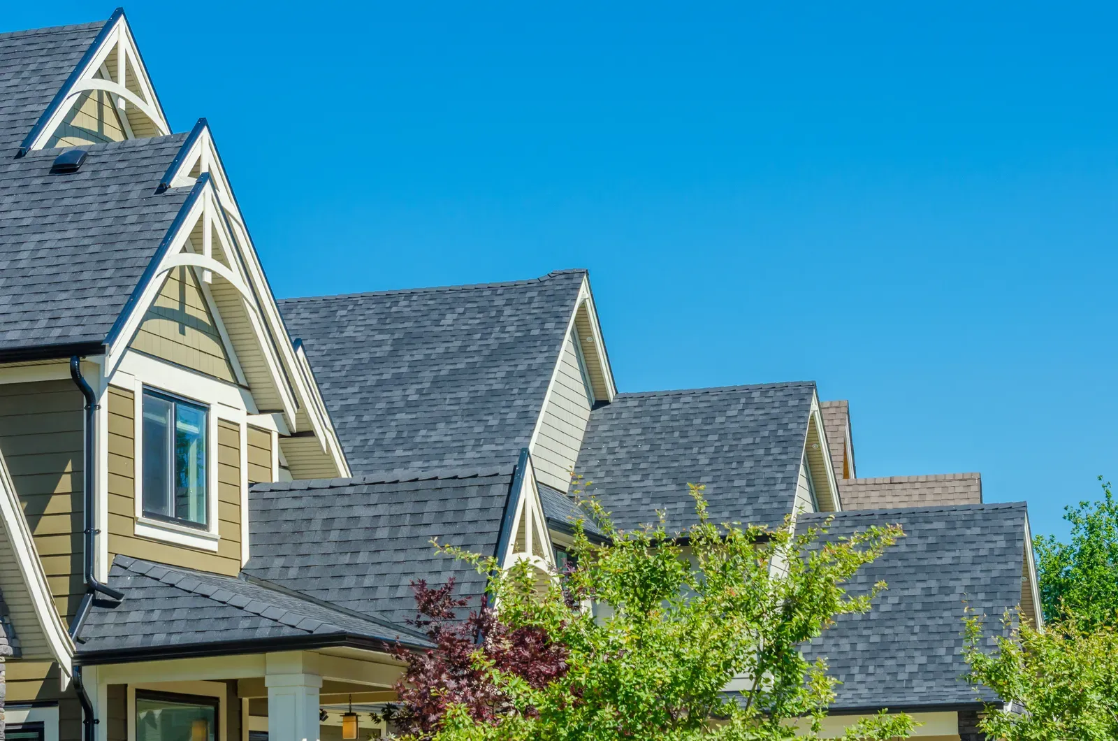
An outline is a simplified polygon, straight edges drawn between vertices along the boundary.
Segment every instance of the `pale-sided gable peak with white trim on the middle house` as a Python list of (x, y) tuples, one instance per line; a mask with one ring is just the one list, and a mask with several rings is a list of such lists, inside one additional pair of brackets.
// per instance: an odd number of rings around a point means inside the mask
[(584, 276), (529, 443), (541, 482), (567, 491), (590, 410), (616, 395), (590, 281)]

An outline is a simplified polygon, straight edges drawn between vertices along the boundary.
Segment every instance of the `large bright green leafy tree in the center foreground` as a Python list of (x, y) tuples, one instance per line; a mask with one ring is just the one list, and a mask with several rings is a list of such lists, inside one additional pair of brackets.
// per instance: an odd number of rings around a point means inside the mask
[[(591, 500), (609, 540), (591, 543), (578, 526), (571, 548), (577, 566), (542, 590), (527, 562), (501, 571), (493, 559), (443, 548), (490, 575), (489, 594), (502, 627), (480, 638), (473, 662), (501, 696), (503, 712), (479, 712), (470, 700), (476, 687), (462, 694), (459, 684), (445, 683), (435, 692), (451, 702), (434, 728), (414, 738), (816, 738), (835, 681), (823, 662), (809, 664), (799, 649), (835, 616), (870, 609), (883, 583), (858, 595), (843, 583), (903, 533), (898, 526), (871, 527), (824, 542), (825, 531), (796, 535), (787, 524), (716, 525), (701, 489), (692, 487), (692, 495), (699, 522), (682, 534), (670, 534), (663, 516), (655, 527), (616, 531)], [(509, 649), (503, 642), (524, 630), (543, 636), (542, 647), (563, 657), (563, 670), (546, 683), (502, 668)], [(723, 690), (731, 679), (742, 688), (728, 696)], [(904, 738), (913, 726), (907, 715), (883, 712), (846, 738)]]

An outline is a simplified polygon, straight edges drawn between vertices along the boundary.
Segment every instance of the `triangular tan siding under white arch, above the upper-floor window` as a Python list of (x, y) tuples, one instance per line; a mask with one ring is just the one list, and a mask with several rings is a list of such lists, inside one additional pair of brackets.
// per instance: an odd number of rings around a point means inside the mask
[(215, 378), (236, 379), (217, 322), (190, 268), (174, 268), (168, 274), (131, 347)]

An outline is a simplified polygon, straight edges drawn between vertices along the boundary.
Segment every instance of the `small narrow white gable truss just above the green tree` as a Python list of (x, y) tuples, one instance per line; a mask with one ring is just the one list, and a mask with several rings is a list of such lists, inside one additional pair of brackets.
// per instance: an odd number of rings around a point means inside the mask
[(548, 534), (543, 504), (536, 482), (536, 470), (528, 449), (520, 452), (509, 501), (501, 522), (496, 557), (502, 569), (528, 561), (536, 569), (537, 583), (544, 588), (556, 568), (551, 536)]

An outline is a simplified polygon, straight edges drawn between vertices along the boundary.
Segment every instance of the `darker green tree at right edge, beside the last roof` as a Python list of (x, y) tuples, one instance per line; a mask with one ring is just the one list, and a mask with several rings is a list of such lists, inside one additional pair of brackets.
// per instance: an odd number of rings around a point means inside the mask
[(1102, 485), (1100, 501), (1064, 510), (1071, 543), (1034, 538), (1044, 617), (1055, 620), (1070, 610), (1083, 627), (1118, 626), (1118, 500), (1110, 482)]

